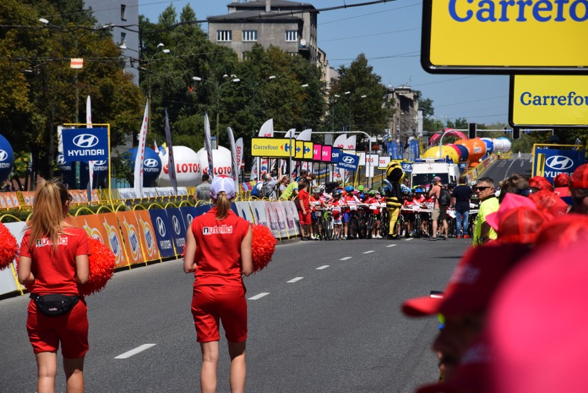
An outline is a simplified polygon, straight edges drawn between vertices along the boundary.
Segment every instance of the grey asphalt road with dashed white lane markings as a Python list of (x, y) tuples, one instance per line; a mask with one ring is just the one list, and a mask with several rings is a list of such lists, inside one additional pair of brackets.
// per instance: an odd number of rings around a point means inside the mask
[[(522, 164), (521, 164), (522, 165)], [(518, 169), (500, 160), (495, 179)], [(502, 175), (500, 174), (502, 173)], [(502, 177), (500, 177), (502, 176)], [(413, 392), (435, 381), (436, 318), (406, 318), (406, 298), (442, 290), (468, 240), (295, 242), (245, 279), (247, 391)], [(181, 260), (119, 271), (89, 296), (87, 392), (197, 392), (201, 356), (190, 314), (193, 276)], [(26, 296), (0, 301), (0, 392), (35, 392)], [(224, 337), (221, 348), (226, 343)], [(122, 354), (146, 347), (126, 358)], [(61, 370), (61, 366), (59, 367)], [(63, 392), (58, 373), (58, 392)], [(221, 351), (218, 392), (229, 392)]]

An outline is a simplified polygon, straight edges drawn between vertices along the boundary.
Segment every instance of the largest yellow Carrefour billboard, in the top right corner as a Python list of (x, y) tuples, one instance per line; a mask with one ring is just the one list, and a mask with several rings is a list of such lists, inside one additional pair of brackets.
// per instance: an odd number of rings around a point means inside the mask
[(421, 63), (433, 73), (588, 74), (587, 39), (586, 0), (423, 1)]

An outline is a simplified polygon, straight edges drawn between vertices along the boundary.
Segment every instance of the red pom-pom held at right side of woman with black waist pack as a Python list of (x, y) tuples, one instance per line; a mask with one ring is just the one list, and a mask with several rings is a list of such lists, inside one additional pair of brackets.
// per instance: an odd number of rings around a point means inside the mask
[(116, 258), (100, 240), (88, 238), (90, 246), (90, 277), (88, 284), (79, 285), (81, 295), (91, 295), (106, 287), (106, 282), (115, 274)]

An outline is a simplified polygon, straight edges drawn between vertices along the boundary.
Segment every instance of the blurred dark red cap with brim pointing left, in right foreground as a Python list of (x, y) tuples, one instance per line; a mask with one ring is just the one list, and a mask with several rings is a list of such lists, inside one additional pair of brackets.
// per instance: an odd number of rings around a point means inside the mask
[(406, 300), (402, 312), (407, 316), (427, 316), (484, 310), (498, 283), (528, 251), (529, 247), (516, 243), (470, 248), (453, 271), (442, 298)]

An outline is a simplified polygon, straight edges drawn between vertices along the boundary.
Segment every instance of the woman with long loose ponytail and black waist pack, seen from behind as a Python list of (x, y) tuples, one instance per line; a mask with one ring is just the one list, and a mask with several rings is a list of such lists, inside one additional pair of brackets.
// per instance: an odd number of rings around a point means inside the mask
[(84, 392), (88, 315), (78, 285), (88, 282), (88, 236), (68, 224), (71, 195), (59, 180), (41, 180), (24, 233), (19, 282), (30, 290), (26, 328), (37, 358), (37, 392), (55, 392), (61, 343), (68, 393)]

